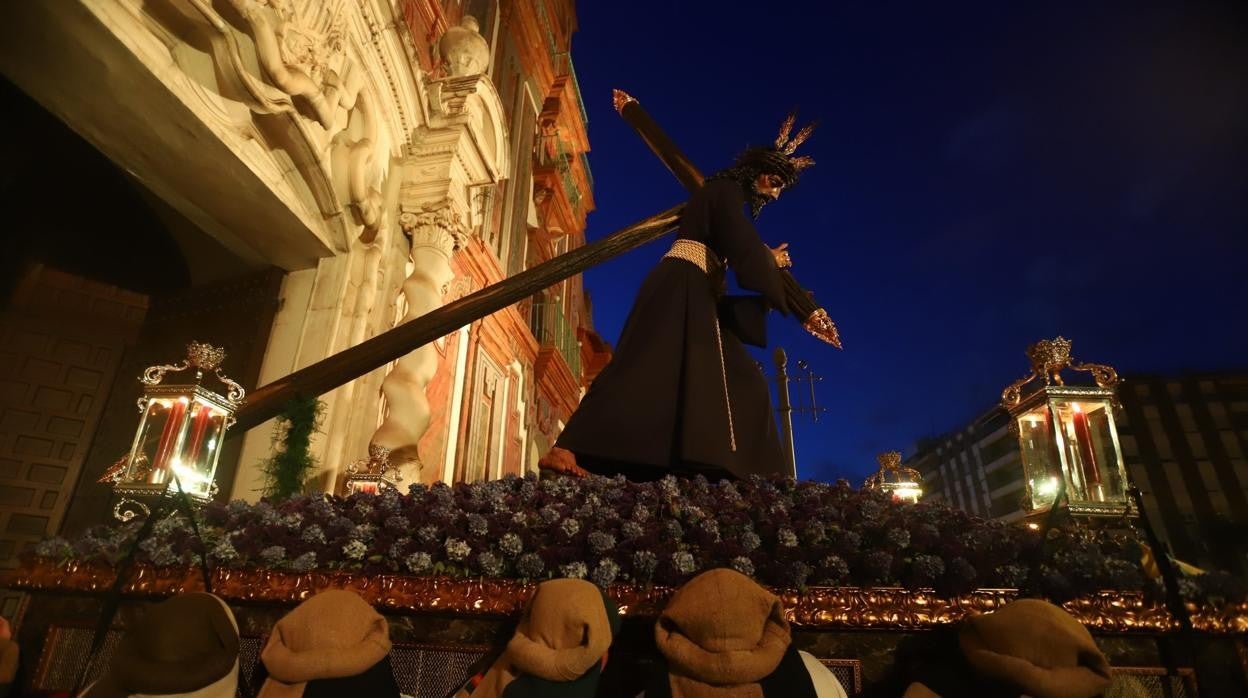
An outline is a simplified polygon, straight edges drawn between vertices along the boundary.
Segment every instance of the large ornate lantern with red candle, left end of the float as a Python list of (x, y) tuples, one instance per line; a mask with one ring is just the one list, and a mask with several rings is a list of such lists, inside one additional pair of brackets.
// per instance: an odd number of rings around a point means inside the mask
[[(171, 497), (178, 489), (195, 503), (216, 496), (221, 445), (246, 396), (242, 386), (221, 372), (225, 357), (221, 348), (191, 342), (182, 362), (144, 371), (140, 378), (144, 396), (139, 398), (142, 417), (130, 455), (101, 478), (112, 484), (119, 497), (112, 508), (117, 519), (146, 516), (154, 501)], [(166, 373), (183, 371), (188, 381), (165, 382)], [(202, 385), (210, 372), (223, 391)]]

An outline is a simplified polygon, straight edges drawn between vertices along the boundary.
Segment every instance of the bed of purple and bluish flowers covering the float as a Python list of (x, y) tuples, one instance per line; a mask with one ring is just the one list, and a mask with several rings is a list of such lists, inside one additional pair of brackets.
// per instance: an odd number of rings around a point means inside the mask
[[(937, 503), (902, 503), (876, 491), (792, 479), (710, 483), (668, 477), (413, 484), (348, 497), (296, 496), (271, 503), (212, 503), (197, 514), (202, 541), (181, 514), (158, 521), (140, 562), (291, 572), (353, 571), (544, 579), (588, 578), (678, 586), (731, 567), (774, 587), (859, 586), (1020, 588), (1053, 601), (1099, 589), (1156, 591), (1139, 547), (1123, 532), (1068, 526), (1038, 533)], [(115, 564), (137, 523), (51, 538), (35, 554)], [(1207, 579), (1203, 579), (1206, 578)], [(1242, 601), (1244, 584), (1206, 574), (1193, 599)]]

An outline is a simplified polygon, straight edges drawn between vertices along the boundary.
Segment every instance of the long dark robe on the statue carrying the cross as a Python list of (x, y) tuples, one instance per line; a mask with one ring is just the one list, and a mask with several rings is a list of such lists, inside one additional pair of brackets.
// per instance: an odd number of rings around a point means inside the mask
[[(678, 237), (706, 245), (728, 261), (739, 286), (787, 312), (775, 258), (744, 207), (740, 184), (711, 180), (690, 199)], [(716, 286), (685, 260), (665, 257), (650, 271), (612, 361), (558, 438), (559, 447), (577, 455), (578, 465), (638, 479), (666, 472), (721, 476), (726, 471), (736, 477), (787, 472), (766, 378), (729, 322), (720, 332), (720, 370)]]

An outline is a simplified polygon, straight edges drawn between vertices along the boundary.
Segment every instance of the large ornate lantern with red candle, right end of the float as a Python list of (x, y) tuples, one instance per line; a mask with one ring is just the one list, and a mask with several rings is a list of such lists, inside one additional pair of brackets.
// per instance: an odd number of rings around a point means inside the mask
[[(1063, 337), (1036, 342), (1027, 357), (1031, 373), (1001, 393), (1022, 452), (1023, 508), (1046, 512), (1065, 488), (1071, 513), (1133, 513), (1114, 425), (1117, 371), (1072, 362), (1071, 341)], [(1096, 386), (1067, 386), (1061, 376), (1066, 368), (1091, 373)], [(1023, 396), (1023, 387), (1036, 380), (1043, 385)]]

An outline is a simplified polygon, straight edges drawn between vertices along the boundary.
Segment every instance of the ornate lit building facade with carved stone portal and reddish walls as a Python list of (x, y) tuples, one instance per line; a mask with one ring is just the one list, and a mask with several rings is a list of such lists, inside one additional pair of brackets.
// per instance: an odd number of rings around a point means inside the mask
[[(582, 245), (575, 30), (573, 0), (5, 4), (0, 567), (107, 516), (136, 378), (188, 341), (255, 388)], [(608, 355), (568, 280), (321, 396), (317, 483), (369, 445), (407, 482), (525, 472)]]

